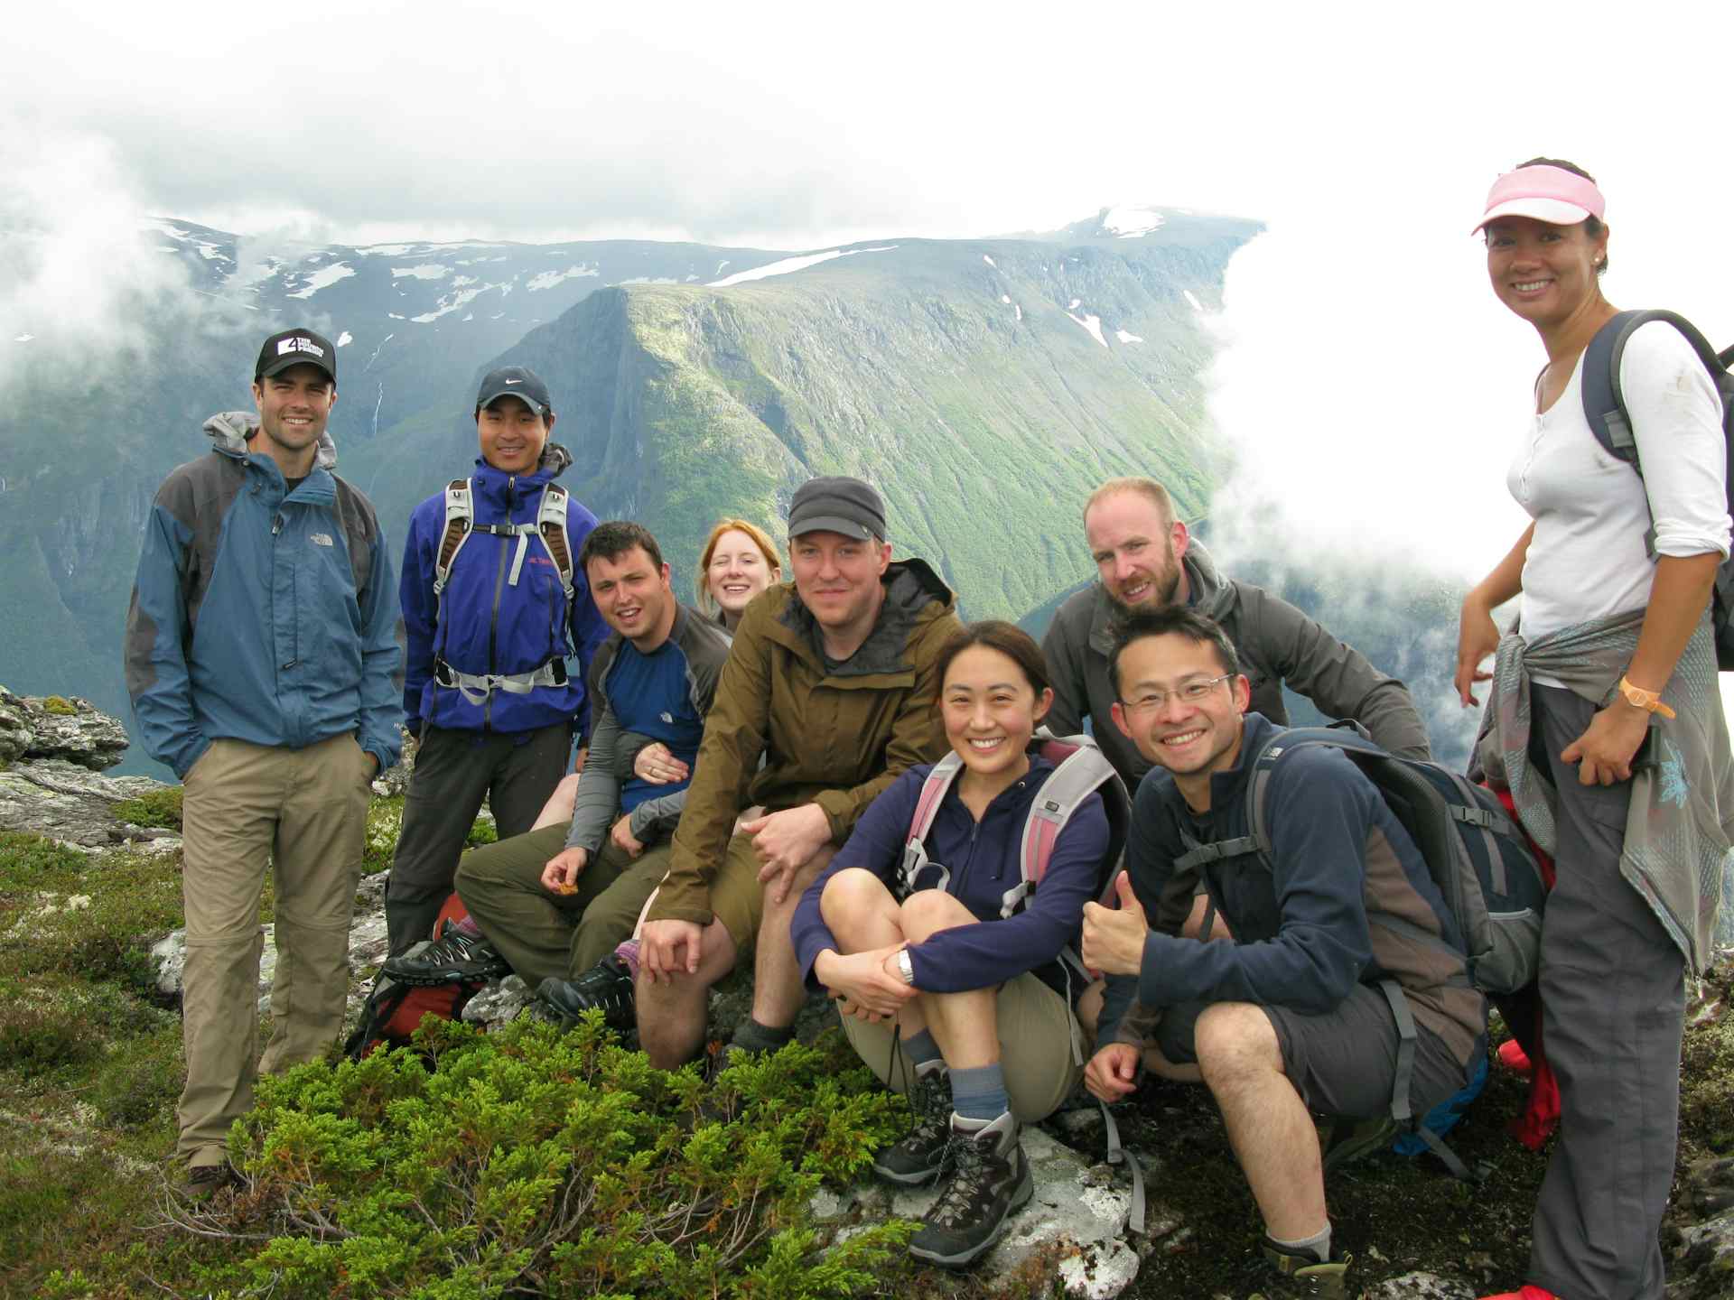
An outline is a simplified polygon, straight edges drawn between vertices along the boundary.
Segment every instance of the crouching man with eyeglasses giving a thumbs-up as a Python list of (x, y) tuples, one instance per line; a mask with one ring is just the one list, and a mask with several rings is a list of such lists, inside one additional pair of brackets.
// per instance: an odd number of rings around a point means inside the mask
[[(1181, 938), (1193, 891), (1176, 860), (1248, 835), (1247, 780), (1281, 728), (1247, 711), (1233, 643), (1183, 605), (1131, 615), (1108, 671), (1115, 731), (1155, 770), (1132, 806), (1122, 908), (1084, 908), (1084, 962), (1108, 976), (1084, 1082), (1103, 1101), (1129, 1095), (1141, 1068), (1209, 1087), (1271, 1264), (1342, 1297), (1347, 1262), (1330, 1250), (1323, 1168), (1396, 1132), (1401, 1037), (1392, 1002), (1368, 981), (1396, 981), (1391, 998), (1415, 1021), (1410, 1106), (1425, 1115), (1486, 1050), (1462, 938), (1379, 790), (1323, 749), (1290, 751), (1261, 777), (1268, 858), (1202, 868), (1233, 941)], [(1370, 913), (1405, 927), (1373, 926)], [(1311, 1111), (1340, 1121), (1328, 1153)]]

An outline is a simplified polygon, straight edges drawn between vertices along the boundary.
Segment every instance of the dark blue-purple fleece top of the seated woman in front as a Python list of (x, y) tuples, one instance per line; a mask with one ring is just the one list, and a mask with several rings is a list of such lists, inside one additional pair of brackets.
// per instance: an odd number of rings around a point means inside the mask
[[(855, 823), (848, 842), (831, 860), (825, 872), (801, 896), (789, 936), (801, 962), (808, 988), (822, 985), (813, 978), (813, 962), (825, 948), (838, 952), (838, 941), (818, 913), (818, 898), (825, 884), (841, 870), (860, 867), (895, 887), (903, 863), (903, 846), (909, 842), (909, 823), (916, 816), (916, 803), (931, 763), (910, 768), (898, 777), (884, 794), (869, 804)], [(1056, 965), (1059, 950), (1075, 945), (1084, 917), (1084, 903), (1096, 894), (1101, 858), (1108, 851), (1108, 815), (1101, 796), (1092, 794), (1072, 815), (1059, 839), (1040, 887), (1030, 894), (1025, 908), (1011, 917), (1001, 917), (1001, 900), (1018, 884), (1018, 846), (1023, 841), (1023, 823), (1035, 803), (1037, 790), (1053, 775), (1054, 764), (1044, 757), (1030, 757), (1030, 771), (1002, 790), (987, 806), (981, 820), (957, 797), (959, 777), (945, 792), (928, 832), (928, 860), (950, 868), (947, 893), (968, 907), (980, 922), (957, 926), (916, 943), (909, 948), (909, 962), (916, 972), (916, 988), (926, 993), (962, 993), (973, 988), (992, 988), (1014, 979), (1025, 971), (1035, 971), (1058, 991), (1065, 991), (1065, 976)], [(1082, 991), (1082, 990), (1075, 990)]]

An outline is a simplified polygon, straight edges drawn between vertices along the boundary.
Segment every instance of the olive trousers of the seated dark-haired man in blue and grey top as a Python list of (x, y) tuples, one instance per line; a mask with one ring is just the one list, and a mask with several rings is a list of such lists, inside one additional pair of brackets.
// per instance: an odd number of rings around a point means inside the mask
[(636, 858), (605, 841), (579, 874), (577, 893), (553, 894), (543, 889), (541, 874), (565, 848), (565, 834), (564, 823), (543, 827), (470, 849), (458, 863), (458, 898), (532, 990), (548, 976), (570, 979), (614, 952), (668, 874), (668, 841)]

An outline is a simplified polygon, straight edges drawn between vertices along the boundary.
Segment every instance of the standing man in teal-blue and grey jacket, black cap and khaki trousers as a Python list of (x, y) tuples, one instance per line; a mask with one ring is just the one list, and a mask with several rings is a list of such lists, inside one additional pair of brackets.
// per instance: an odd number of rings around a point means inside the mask
[(158, 489), (127, 615), (135, 733), (184, 782), (177, 1154), (194, 1198), (229, 1179), (224, 1141), (253, 1102), (265, 865), (269, 1073), (317, 1059), (342, 1028), (369, 783), (399, 752), (392, 562), (373, 506), (331, 473), (335, 400), (329, 340), (265, 340), (257, 419), (212, 416), (212, 454)]

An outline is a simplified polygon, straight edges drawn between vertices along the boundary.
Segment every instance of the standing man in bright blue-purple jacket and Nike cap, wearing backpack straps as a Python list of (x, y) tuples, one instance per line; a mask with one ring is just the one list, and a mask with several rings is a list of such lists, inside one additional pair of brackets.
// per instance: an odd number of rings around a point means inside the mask
[(531, 830), (588, 718), (584, 676), (609, 629), (572, 556), (596, 517), (553, 482), (572, 463), (548, 442), (553, 421), (534, 371), (489, 371), (475, 473), (409, 517), (404, 716), (420, 740), (385, 887), (394, 955), (432, 933), (482, 799), (499, 839)]

